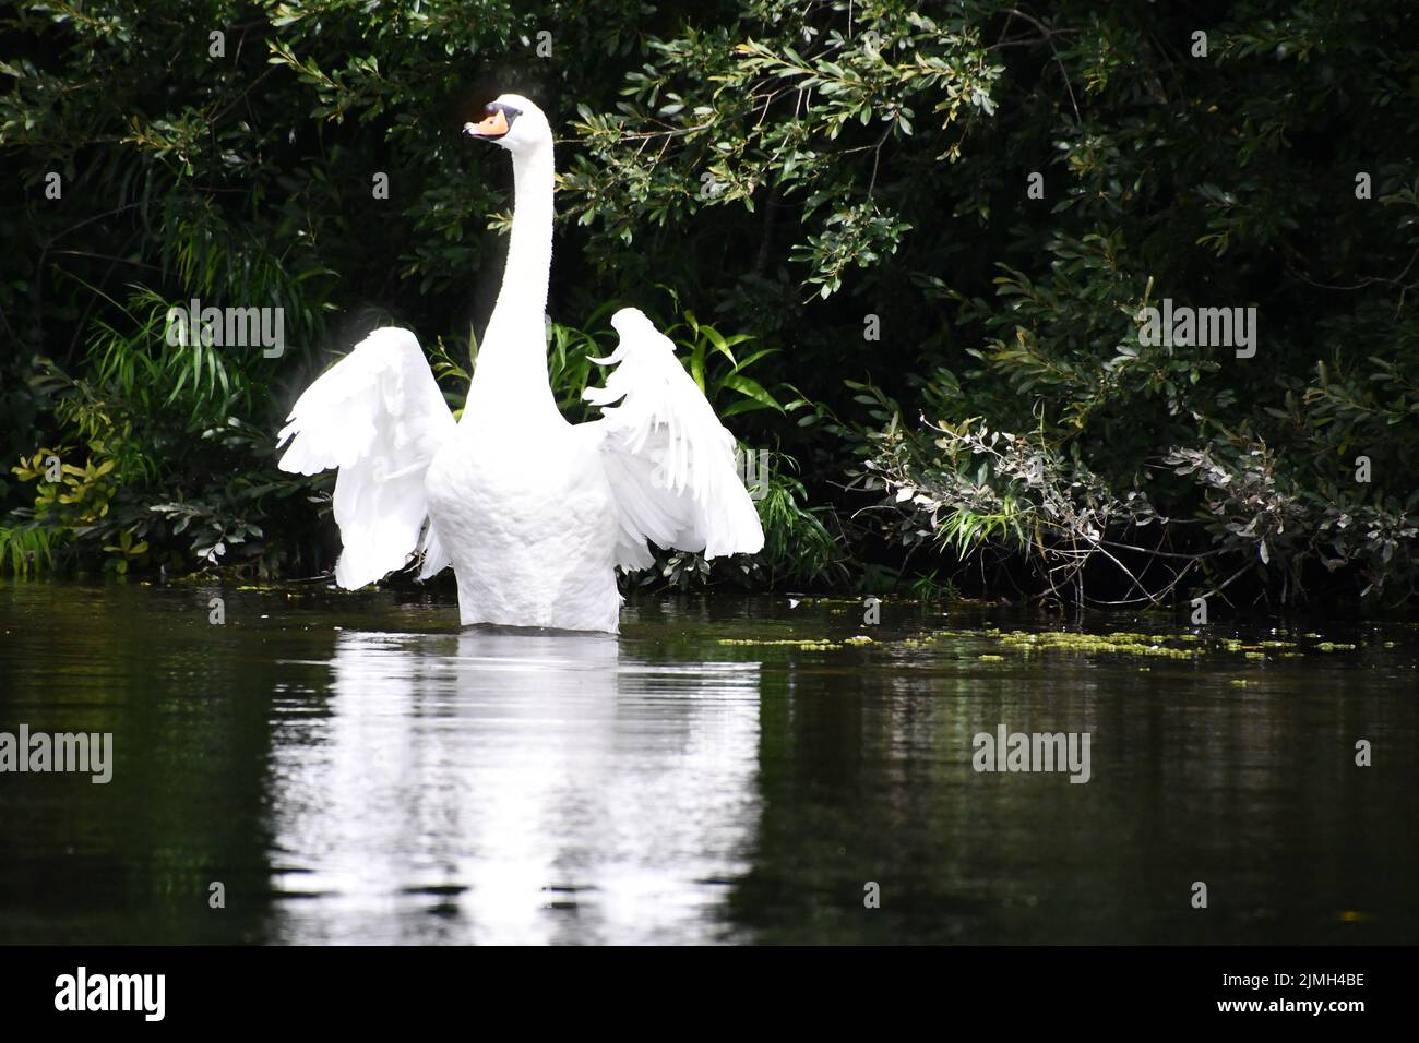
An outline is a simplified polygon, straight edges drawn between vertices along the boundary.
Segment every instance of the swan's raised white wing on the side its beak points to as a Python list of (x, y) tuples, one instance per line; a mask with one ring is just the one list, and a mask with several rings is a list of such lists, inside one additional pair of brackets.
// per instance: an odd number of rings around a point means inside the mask
[(297, 399), (287, 420), (277, 447), (294, 438), (282, 471), (339, 468), (335, 522), (345, 549), (336, 583), (373, 583), (420, 551), (420, 578), (448, 565), (427, 524), (424, 473), (454, 419), (413, 333), (376, 329)]

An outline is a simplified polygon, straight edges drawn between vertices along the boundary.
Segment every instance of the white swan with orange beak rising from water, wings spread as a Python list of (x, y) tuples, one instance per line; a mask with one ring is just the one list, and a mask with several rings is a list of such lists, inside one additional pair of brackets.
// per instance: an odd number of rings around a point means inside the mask
[[(646, 541), (707, 558), (763, 546), (734, 465), (734, 437), (636, 308), (602, 419), (570, 424), (546, 369), (552, 264), (552, 129), (526, 98), (501, 95), (464, 133), (512, 153), (508, 263), (454, 423), (407, 329), (376, 329), (297, 400), (281, 468), (338, 467), (335, 579), (360, 587), (421, 555), (420, 579), (453, 565), (461, 622), (616, 633), (616, 568), (643, 569)], [(612, 403), (619, 402), (619, 406)]]

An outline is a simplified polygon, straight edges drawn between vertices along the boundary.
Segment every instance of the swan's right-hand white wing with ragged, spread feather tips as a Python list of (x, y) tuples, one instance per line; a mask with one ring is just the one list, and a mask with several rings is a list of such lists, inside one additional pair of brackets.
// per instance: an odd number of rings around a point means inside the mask
[(600, 438), (616, 497), (616, 563), (651, 565), (647, 539), (705, 558), (762, 549), (759, 515), (734, 465), (734, 436), (675, 359), (670, 338), (636, 308), (616, 312), (612, 326), (620, 343), (593, 362), (617, 366), (603, 387), (583, 393), (602, 406), (602, 419), (583, 427)]

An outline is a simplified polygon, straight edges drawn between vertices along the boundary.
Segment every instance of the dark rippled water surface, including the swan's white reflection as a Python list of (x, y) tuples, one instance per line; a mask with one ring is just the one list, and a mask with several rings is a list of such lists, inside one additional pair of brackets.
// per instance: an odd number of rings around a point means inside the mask
[[(0, 942), (1419, 941), (1419, 629), (1026, 656), (986, 629), (1069, 627), (1007, 612), (648, 600), (616, 640), (0, 585), (0, 732), (115, 748), (108, 785), (0, 773)], [(973, 771), (1000, 724), (1088, 732), (1090, 780)]]

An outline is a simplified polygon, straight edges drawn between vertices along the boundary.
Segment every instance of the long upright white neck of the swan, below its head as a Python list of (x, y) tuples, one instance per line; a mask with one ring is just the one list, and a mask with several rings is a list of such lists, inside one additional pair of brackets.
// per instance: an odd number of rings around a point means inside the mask
[[(556, 413), (546, 375), (546, 284), (552, 268), (552, 143), (512, 158), (512, 234), (498, 302), (488, 319), (465, 419), (498, 403)], [(474, 397), (484, 399), (474, 403)], [(498, 409), (501, 413), (502, 410)]]

